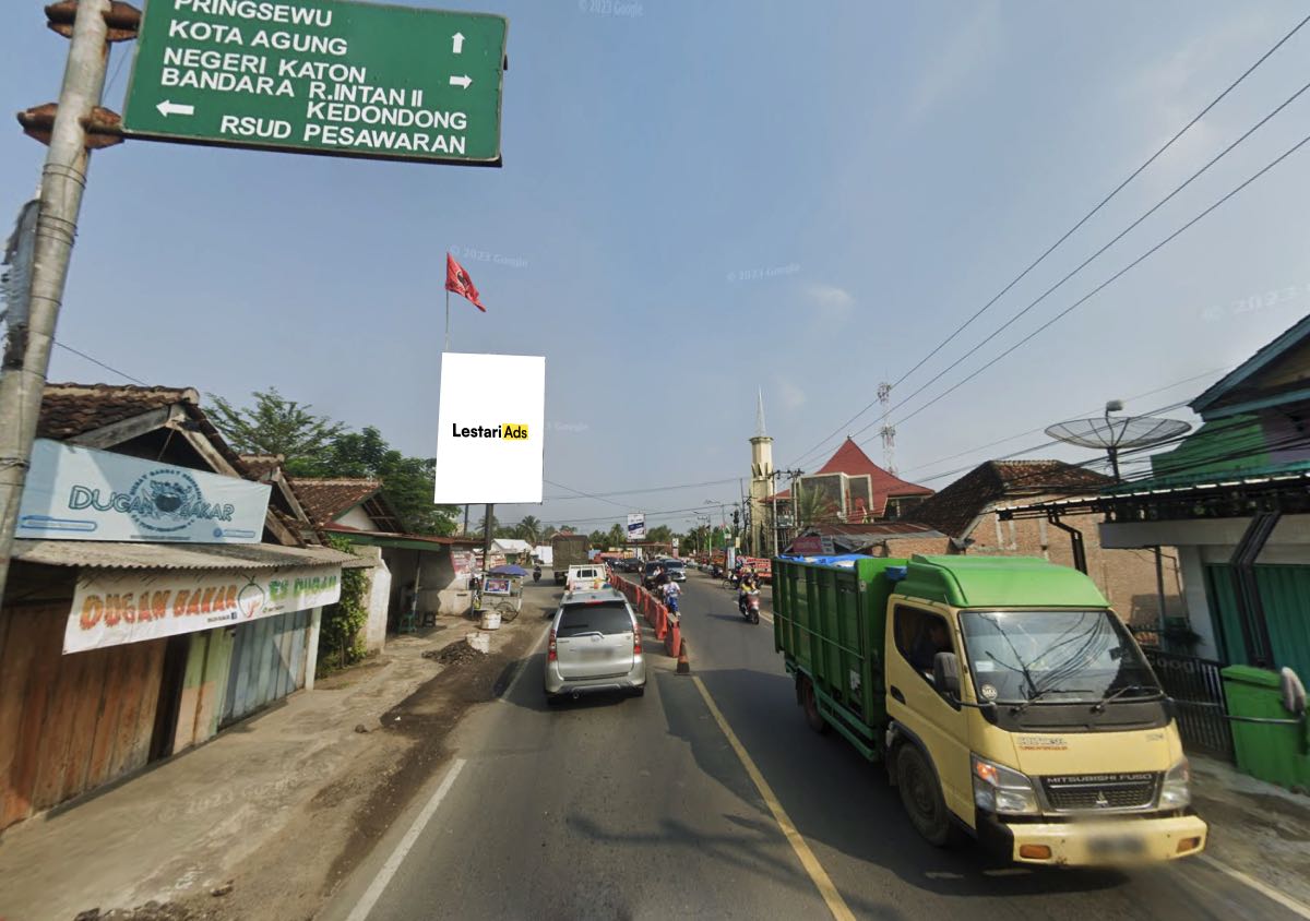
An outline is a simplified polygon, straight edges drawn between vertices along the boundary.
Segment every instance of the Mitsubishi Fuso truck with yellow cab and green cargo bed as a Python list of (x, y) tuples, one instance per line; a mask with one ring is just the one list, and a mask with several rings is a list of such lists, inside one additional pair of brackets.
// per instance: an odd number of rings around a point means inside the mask
[(918, 832), (1024, 863), (1200, 853), (1172, 702), (1095, 583), (1028, 557), (774, 561), (811, 727), (883, 760)]

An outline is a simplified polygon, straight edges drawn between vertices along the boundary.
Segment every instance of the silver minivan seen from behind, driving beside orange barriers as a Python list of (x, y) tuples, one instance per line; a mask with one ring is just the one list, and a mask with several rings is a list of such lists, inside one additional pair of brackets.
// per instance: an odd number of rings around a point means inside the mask
[(545, 689), (552, 704), (597, 690), (646, 692), (642, 631), (622, 595), (613, 588), (565, 595), (550, 622)]

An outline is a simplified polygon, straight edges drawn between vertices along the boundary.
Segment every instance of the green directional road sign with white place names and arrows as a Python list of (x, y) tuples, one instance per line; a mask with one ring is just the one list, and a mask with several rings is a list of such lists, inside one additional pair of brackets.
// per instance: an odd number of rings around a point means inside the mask
[(498, 166), (507, 29), (341, 0), (149, 0), (123, 131)]

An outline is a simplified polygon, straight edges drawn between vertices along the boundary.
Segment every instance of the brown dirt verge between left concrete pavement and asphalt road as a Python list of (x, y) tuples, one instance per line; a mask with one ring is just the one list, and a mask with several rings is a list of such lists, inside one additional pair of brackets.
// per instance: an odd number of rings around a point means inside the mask
[[(508, 686), (538, 638), (532, 629), (515, 633), (490, 655), (473, 651), (464, 641), (447, 647), (438, 656), (443, 666), (439, 675), (381, 714), (373, 726), (356, 727), (371, 736), (364, 755), (238, 863), (231, 886), (165, 904), (106, 913), (90, 909), (77, 921), (312, 918), (445, 764), (451, 730), (470, 707), (494, 701)], [(335, 680), (348, 681), (348, 672)]]

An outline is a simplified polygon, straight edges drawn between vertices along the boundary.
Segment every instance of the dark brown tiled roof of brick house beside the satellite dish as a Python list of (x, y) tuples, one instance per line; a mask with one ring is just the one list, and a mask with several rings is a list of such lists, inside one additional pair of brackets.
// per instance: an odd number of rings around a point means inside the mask
[(1108, 482), (1110, 477), (1057, 460), (988, 461), (913, 508), (909, 517), (950, 537), (964, 537), (993, 503), (1049, 493), (1095, 493)]

